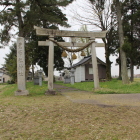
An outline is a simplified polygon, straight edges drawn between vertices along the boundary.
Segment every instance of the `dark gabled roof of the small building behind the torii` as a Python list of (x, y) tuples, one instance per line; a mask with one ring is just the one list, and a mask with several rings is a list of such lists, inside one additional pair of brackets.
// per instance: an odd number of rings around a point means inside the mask
[[(80, 60), (78, 63), (74, 64), (71, 68), (76, 68), (76, 67), (78, 67), (78, 66), (80, 66), (80, 65), (84, 65), (84, 64), (86, 64), (86, 63), (88, 63), (88, 62), (90, 62), (90, 61), (91, 61), (91, 55), (90, 55), (90, 56), (84, 57), (84, 58), (83, 58), (82, 60)], [(97, 57), (97, 62), (100, 63), (100, 64), (102, 64), (102, 65), (105, 65), (105, 66), (106, 66), (106, 63), (103, 62), (102, 60), (100, 60), (98, 57)]]

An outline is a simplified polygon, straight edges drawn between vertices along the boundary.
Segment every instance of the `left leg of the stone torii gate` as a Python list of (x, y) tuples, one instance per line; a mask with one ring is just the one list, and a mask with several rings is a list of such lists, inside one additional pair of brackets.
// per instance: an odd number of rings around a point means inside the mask
[[(54, 36), (49, 37), (54, 40)], [(50, 41), (49, 43), (49, 63), (48, 63), (48, 91), (46, 94), (55, 94), (53, 89), (53, 66), (54, 66), (54, 43)]]

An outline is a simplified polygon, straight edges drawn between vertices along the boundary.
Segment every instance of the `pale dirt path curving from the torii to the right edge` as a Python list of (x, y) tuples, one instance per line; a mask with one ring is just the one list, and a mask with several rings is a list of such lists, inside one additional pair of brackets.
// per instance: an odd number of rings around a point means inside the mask
[(54, 85), (57, 92), (75, 103), (93, 104), (102, 107), (129, 106), (140, 107), (140, 94), (95, 94), (75, 88)]

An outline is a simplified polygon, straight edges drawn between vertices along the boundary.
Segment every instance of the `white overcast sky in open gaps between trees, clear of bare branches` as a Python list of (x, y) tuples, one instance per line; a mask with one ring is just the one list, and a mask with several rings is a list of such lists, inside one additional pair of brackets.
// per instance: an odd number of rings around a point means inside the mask
[[(71, 28), (66, 29), (66, 28), (60, 28), (61, 30), (74, 30), (74, 31), (78, 31), (81, 27), (81, 24), (74, 21), (73, 17), (75, 16), (73, 14), (73, 9), (76, 9), (78, 12), (81, 12), (80, 9), (78, 9), (78, 7), (76, 5), (81, 5), (83, 0), (78, 0), (78, 2), (74, 2), (73, 4), (70, 4), (67, 8), (63, 9), (64, 13), (67, 15), (68, 18), (68, 23), (71, 25)], [(85, 2), (85, 1), (84, 1)], [(84, 3), (85, 4), (85, 3)], [(86, 16), (86, 15), (85, 15)], [(99, 29), (92, 27), (92, 26), (88, 26), (88, 30), (89, 31), (97, 31)], [(97, 42), (100, 42), (97, 40)], [(9, 47), (6, 46), (5, 48), (1, 48), (0, 49), (0, 67), (2, 67), (2, 64), (4, 64), (4, 57), (6, 54), (9, 53)], [(105, 62), (105, 49), (104, 48), (96, 48), (96, 54), (97, 57), (99, 59), (101, 59), (102, 61)], [(112, 63), (112, 67), (111, 67), (111, 72), (112, 75), (118, 75), (119, 73), (119, 68), (118, 66), (115, 66), (115, 56), (110, 56), (110, 60), (113, 62)], [(134, 68), (135, 74), (140, 74), (140, 70), (136, 70), (136, 68)]]

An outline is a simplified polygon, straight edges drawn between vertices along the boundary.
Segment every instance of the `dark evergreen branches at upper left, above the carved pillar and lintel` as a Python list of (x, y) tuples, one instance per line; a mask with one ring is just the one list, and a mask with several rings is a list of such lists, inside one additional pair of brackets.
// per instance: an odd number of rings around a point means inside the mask
[(58, 6), (66, 6), (73, 0), (1, 0), (3, 10), (0, 13), (1, 42), (7, 43), (11, 38), (10, 30), (18, 28), (18, 36), (29, 37), (33, 26), (61, 25), (68, 26), (66, 16)]

